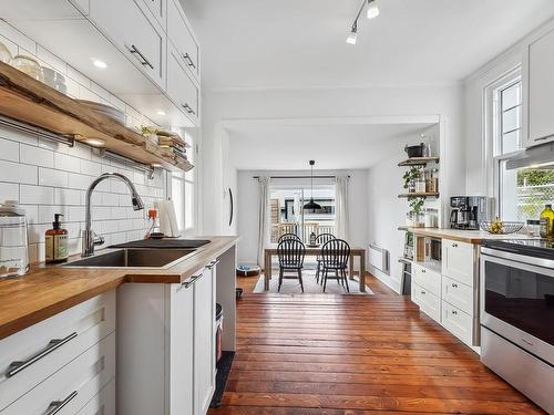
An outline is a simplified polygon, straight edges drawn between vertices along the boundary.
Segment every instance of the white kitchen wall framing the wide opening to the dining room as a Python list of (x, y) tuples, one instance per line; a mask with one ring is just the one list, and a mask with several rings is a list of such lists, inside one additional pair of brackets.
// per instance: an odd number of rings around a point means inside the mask
[[(461, 85), (304, 91), (207, 92), (203, 108), (203, 200), (206, 234), (225, 231), (227, 181), (226, 122), (328, 117), (439, 116), (443, 126), (444, 165), (449, 166), (442, 188), (445, 196), (462, 193), (464, 145), (462, 142)], [(337, 137), (340, 141), (340, 137)], [(247, 156), (247, 155), (245, 155)]]

